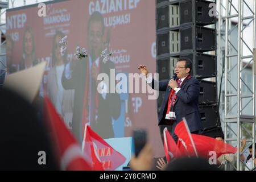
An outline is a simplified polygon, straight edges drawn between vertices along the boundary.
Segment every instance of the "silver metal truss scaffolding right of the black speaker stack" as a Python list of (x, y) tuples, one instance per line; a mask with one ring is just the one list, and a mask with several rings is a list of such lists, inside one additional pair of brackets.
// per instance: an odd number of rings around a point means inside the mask
[[(221, 72), (225, 69), (225, 101), (219, 98), (220, 105), (224, 104), (224, 110), (220, 107), (220, 114), (224, 115), (221, 119), (224, 123), (225, 142), (237, 144), (237, 161), (236, 166), (233, 166), (237, 170), (247, 168), (240, 160), (241, 139), (247, 136), (247, 147), (242, 154), (252, 143), (255, 148), (255, 3), (250, 0), (218, 0), (217, 3), (220, 83), (224, 80)], [(251, 31), (248, 31), (249, 28)]]

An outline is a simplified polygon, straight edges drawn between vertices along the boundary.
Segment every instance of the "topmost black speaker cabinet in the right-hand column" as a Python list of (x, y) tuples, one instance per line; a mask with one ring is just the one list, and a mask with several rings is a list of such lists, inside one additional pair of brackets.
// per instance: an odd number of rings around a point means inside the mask
[(210, 3), (213, 2), (196, 0), (180, 2), (180, 24), (192, 23), (205, 26), (216, 23), (216, 17), (209, 16)]

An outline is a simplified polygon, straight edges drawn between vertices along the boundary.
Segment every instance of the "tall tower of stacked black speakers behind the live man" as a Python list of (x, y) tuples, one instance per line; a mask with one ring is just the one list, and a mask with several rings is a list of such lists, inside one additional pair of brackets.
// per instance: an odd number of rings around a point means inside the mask
[[(209, 14), (211, 3), (216, 5), (204, 0), (156, 0), (156, 72), (159, 81), (170, 80), (177, 60), (191, 59), (191, 75), (200, 81), (201, 134), (214, 137), (223, 133), (217, 104), (216, 16)], [(164, 92), (159, 92), (158, 112), (163, 98)]]

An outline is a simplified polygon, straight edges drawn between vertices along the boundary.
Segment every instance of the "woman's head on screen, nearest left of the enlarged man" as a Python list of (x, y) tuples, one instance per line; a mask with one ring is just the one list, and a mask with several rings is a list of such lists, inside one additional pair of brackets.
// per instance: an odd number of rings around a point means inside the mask
[(63, 32), (60, 30), (57, 30), (55, 35), (52, 39), (52, 67), (55, 67), (56, 65), (62, 65), (67, 63), (67, 51), (65, 51), (64, 55), (62, 56), (60, 53), (60, 47), (59, 44), (61, 38), (64, 37)]

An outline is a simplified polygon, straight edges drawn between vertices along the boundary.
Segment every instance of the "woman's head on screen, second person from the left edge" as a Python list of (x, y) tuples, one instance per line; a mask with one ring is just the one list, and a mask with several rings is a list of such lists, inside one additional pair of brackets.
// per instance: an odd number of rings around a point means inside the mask
[(31, 27), (26, 27), (23, 32), (23, 55), (26, 57), (35, 55), (35, 38)]

